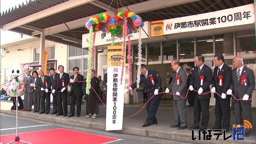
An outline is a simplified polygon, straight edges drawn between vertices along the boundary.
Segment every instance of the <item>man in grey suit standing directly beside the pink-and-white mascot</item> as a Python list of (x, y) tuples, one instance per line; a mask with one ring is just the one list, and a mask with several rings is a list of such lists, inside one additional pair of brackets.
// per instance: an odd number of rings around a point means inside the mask
[(34, 88), (30, 87), (32, 83), (32, 76), (30, 75), (30, 71), (26, 72), (26, 78), (24, 79), (24, 109), (23, 110), (32, 110), (33, 103), (33, 91)]

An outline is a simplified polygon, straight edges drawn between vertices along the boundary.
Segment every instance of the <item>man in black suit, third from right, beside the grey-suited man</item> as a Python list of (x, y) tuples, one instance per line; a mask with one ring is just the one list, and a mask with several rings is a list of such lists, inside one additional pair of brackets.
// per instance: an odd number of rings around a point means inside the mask
[(194, 95), (194, 124), (189, 130), (199, 129), (200, 116), (202, 111), (201, 130), (206, 130), (209, 122), (209, 104), (211, 94), (204, 94), (210, 91), (212, 84), (212, 70), (204, 64), (204, 56), (196, 55), (194, 73), (190, 79), (189, 89), (196, 90)]

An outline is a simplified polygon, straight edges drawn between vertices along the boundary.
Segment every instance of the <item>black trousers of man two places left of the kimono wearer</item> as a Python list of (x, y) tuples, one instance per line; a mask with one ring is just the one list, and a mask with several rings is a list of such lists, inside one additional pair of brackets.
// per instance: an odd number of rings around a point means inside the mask
[[(68, 115), (68, 102), (67, 102), (67, 92), (57, 93), (57, 104), (58, 104), (58, 114)], [(62, 108), (63, 106), (63, 108)]]

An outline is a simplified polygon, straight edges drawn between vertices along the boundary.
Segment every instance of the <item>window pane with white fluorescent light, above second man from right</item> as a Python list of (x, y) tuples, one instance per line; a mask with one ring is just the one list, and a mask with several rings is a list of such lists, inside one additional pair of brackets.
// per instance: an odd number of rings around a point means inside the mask
[(216, 54), (223, 56), (234, 55), (233, 33), (219, 34), (215, 36)]

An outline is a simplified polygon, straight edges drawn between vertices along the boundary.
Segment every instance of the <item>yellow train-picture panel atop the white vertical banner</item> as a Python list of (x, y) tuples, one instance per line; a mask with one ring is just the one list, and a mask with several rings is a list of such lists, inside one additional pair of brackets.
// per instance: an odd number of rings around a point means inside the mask
[(108, 46), (108, 67), (121, 67), (122, 53), (122, 46)]

